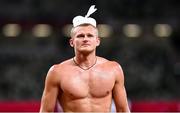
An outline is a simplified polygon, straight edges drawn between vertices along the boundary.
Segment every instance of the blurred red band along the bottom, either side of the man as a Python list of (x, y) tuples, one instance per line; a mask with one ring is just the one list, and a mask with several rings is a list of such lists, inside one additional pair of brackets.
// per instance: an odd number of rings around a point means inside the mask
[[(0, 112), (38, 112), (40, 101), (0, 101)], [(132, 112), (180, 112), (180, 101), (131, 101)]]

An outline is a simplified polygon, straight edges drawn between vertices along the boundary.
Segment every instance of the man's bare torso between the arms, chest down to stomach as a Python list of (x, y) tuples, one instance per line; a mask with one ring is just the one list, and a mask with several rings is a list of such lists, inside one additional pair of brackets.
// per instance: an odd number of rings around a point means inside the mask
[[(66, 73), (61, 81), (60, 102), (65, 111), (109, 111), (114, 77), (94, 69), (74, 74)], [(77, 72), (78, 73), (78, 72)]]

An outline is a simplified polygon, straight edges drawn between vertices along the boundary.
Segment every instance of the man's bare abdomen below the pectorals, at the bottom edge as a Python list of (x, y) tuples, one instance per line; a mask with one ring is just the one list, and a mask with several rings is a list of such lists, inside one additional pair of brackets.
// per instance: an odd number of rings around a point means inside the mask
[(81, 99), (61, 98), (60, 104), (64, 112), (109, 112), (111, 95), (103, 98), (86, 97)]

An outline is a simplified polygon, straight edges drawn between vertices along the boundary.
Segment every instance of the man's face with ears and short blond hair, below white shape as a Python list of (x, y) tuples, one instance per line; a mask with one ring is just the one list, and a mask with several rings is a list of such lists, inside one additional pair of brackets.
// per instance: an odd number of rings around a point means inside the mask
[(75, 51), (92, 52), (99, 45), (97, 29), (91, 25), (78, 26), (73, 29), (70, 45)]

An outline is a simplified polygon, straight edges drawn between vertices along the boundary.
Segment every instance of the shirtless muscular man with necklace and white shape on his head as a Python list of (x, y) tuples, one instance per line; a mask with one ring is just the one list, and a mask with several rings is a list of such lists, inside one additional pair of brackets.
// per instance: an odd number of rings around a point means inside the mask
[(89, 15), (73, 19), (70, 45), (75, 56), (50, 68), (40, 112), (53, 112), (58, 101), (64, 112), (110, 112), (114, 98), (117, 112), (129, 112), (124, 75), (120, 65), (96, 56), (99, 46), (96, 21)]

